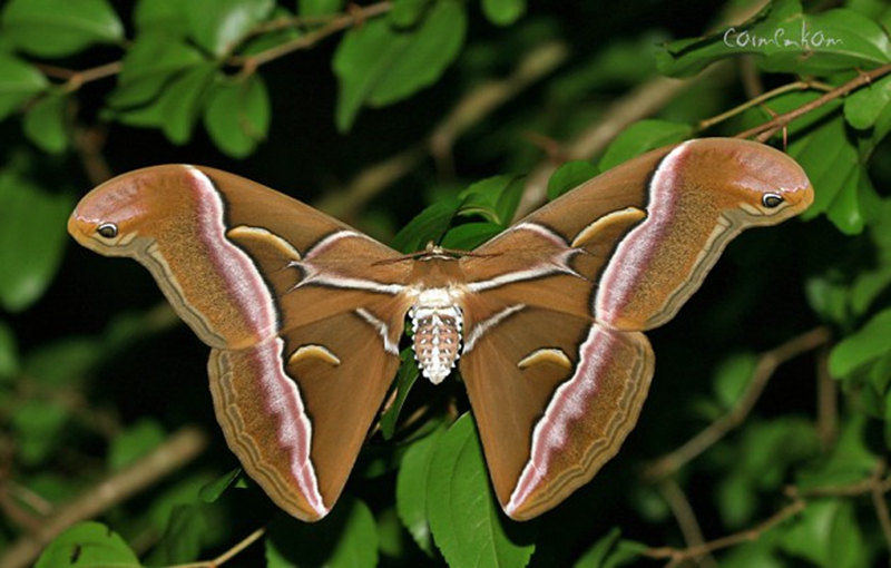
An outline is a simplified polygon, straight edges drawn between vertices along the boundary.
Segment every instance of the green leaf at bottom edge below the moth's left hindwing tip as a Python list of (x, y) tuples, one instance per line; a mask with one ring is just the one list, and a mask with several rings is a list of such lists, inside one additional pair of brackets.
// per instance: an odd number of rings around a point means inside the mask
[(280, 515), (270, 526), (266, 568), (371, 568), (376, 564), (374, 517), (358, 499), (341, 498), (327, 517), (312, 525)]

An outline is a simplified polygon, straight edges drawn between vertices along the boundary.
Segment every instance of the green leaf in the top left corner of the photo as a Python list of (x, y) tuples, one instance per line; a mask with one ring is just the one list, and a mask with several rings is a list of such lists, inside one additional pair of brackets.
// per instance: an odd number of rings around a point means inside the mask
[(10, 0), (3, 33), (37, 57), (66, 57), (95, 43), (117, 43), (124, 26), (106, 0)]

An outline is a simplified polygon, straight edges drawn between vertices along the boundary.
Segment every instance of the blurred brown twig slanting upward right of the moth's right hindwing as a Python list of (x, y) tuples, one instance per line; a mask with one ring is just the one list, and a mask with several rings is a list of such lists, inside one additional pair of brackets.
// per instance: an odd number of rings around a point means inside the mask
[(777, 366), (802, 353), (824, 345), (829, 340), (829, 330), (826, 327), (816, 327), (763, 353), (755, 366), (748, 388), (736, 403), (736, 407), (708, 424), (705, 430), (702, 430), (676, 450), (656, 459), (646, 468), (644, 477), (652, 480), (664, 479), (714, 445), (727, 432), (745, 420)]

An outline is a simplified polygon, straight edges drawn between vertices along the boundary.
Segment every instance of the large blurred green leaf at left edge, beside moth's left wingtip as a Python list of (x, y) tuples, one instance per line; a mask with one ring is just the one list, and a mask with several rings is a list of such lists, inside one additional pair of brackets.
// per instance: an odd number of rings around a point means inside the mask
[(7, 310), (25, 310), (52, 282), (72, 207), (69, 194), (49, 195), (12, 172), (0, 173), (0, 243), (17, 243), (0, 247), (0, 304)]

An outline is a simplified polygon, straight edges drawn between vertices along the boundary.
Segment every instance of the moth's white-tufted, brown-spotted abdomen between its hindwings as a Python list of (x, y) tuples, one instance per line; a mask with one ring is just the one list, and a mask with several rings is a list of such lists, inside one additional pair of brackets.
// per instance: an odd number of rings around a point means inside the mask
[(415, 305), (409, 311), (412, 347), (421, 373), (433, 384), (446, 379), (460, 356), (461, 309), (454, 305)]

